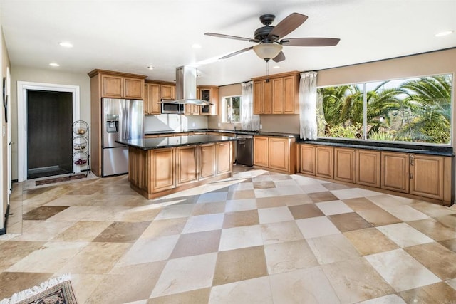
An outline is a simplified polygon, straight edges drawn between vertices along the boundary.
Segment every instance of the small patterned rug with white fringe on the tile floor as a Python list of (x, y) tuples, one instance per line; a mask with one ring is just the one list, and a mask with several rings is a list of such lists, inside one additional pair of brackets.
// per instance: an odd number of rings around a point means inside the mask
[(68, 278), (69, 276), (51, 278), (39, 286), (1, 300), (0, 304), (76, 304), (76, 297)]

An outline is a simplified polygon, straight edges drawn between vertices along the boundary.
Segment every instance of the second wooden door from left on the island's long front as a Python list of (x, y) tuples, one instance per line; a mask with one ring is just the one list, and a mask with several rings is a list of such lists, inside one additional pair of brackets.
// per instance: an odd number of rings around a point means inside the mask
[(197, 176), (197, 147), (176, 148), (177, 186), (196, 181)]

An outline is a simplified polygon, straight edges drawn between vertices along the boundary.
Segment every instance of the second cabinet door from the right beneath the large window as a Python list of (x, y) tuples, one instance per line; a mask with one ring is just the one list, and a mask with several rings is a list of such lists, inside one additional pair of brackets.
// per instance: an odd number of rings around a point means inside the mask
[(381, 152), (381, 167), (381, 188), (408, 193), (408, 154)]

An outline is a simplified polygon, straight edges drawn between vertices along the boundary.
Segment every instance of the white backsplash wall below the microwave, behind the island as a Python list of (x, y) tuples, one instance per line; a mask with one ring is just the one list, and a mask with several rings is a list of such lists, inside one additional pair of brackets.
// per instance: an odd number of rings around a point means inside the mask
[(207, 116), (161, 114), (146, 115), (144, 119), (144, 132), (181, 132), (192, 129), (207, 129)]

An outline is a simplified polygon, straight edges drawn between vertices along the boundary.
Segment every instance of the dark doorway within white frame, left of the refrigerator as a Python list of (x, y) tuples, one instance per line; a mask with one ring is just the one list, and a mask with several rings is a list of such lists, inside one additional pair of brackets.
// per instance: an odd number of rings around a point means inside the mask
[(73, 93), (27, 90), (27, 179), (72, 171)]

